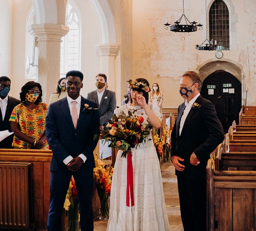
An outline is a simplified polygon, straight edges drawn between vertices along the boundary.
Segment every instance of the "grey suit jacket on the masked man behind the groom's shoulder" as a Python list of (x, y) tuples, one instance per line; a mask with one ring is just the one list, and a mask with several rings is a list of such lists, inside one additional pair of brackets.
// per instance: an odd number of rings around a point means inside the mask
[(112, 115), (114, 115), (114, 110), (116, 109), (116, 93), (105, 89), (100, 104), (97, 90), (89, 92), (86, 98), (98, 104), (100, 124), (106, 126)]

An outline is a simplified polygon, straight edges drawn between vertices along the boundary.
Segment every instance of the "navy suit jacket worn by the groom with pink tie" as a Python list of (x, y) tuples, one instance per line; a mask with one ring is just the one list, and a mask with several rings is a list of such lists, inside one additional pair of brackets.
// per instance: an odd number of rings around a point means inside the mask
[(74, 128), (67, 98), (50, 104), (45, 120), (47, 142), (53, 151), (51, 170), (67, 170), (63, 160), (71, 155), (86, 156), (81, 168), (94, 168), (93, 151), (99, 139), (99, 110), (85, 109), (84, 104), (97, 108), (97, 104), (81, 97), (78, 124)]

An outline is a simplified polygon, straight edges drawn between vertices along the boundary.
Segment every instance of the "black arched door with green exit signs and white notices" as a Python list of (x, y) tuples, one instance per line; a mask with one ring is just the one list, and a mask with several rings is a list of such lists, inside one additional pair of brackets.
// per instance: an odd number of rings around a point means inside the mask
[(203, 81), (201, 95), (215, 105), (225, 133), (233, 120), (236, 120), (236, 124), (239, 123), (241, 83), (235, 76), (223, 70), (211, 73)]

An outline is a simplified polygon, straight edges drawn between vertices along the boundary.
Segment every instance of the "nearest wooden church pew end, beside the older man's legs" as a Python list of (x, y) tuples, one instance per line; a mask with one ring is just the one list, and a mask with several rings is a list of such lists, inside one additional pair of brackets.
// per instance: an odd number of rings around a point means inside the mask
[(255, 230), (256, 171), (206, 167), (207, 231)]

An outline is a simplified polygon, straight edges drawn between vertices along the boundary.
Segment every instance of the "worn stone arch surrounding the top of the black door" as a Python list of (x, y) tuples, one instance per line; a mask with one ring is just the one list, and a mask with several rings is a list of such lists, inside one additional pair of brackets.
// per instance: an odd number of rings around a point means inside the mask
[(242, 65), (230, 59), (206, 60), (204, 63), (197, 67), (197, 70), (202, 82), (211, 73), (217, 70), (224, 70), (231, 73), (240, 81), (240, 83), (242, 83)]

